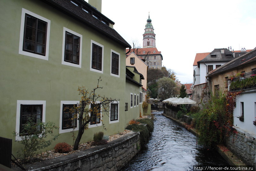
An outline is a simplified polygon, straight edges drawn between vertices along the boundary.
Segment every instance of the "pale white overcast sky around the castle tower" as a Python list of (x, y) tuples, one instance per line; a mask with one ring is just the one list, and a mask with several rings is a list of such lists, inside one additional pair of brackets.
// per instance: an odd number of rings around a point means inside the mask
[(141, 46), (150, 12), (163, 66), (183, 84), (193, 82), (196, 53), (256, 47), (255, 0), (102, 0), (101, 12), (128, 43)]

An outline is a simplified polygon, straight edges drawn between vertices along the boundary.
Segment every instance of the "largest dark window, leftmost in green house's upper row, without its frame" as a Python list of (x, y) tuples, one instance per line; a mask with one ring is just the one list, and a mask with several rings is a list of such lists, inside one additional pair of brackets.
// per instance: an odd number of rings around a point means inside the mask
[(47, 22), (25, 15), (23, 51), (45, 56)]

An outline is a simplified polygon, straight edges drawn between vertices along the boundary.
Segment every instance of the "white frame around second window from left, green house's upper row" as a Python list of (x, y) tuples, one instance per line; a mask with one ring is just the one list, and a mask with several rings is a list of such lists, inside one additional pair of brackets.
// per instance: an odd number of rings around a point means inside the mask
[[(73, 35), (76, 35), (78, 37), (80, 37), (80, 50), (79, 50), (79, 64), (73, 64), (73, 63), (70, 63), (70, 62), (66, 62), (64, 61), (64, 58), (65, 58), (65, 42), (66, 42), (66, 31), (73, 34)], [(61, 64), (62, 65), (68, 65), (68, 66), (75, 66), (75, 67), (78, 67), (78, 68), (81, 68), (82, 67), (82, 41), (83, 41), (83, 36), (80, 35), (79, 33), (76, 33), (66, 27), (63, 27), (63, 38), (62, 38), (62, 58), (61, 58)]]

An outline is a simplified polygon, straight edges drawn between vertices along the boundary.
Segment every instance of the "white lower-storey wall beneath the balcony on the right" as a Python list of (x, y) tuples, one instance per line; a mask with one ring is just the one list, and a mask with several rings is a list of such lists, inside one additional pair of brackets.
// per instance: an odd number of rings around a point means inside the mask
[[(241, 102), (244, 102), (244, 121), (237, 118), (241, 115)], [(256, 138), (256, 125), (252, 123), (256, 117), (256, 92), (243, 93), (237, 96), (233, 117), (234, 127), (238, 131)]]

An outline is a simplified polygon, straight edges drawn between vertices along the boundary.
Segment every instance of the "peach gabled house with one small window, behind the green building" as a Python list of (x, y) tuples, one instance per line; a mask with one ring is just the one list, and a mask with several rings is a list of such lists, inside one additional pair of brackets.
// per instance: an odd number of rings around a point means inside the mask
[(126, 66), (134, 66), (139, 73), (141, 73), (144, 77), (141, 84), (142, 86), (142, 94), (143, 98), (142, 101), (147, 100), (147, 72), (148, 72), (148, 65), (137, 55), (133, 52), (130, 53), (129, 56), (126, 57)]

